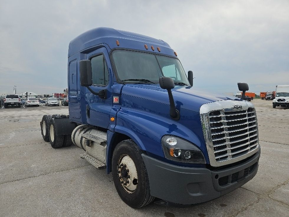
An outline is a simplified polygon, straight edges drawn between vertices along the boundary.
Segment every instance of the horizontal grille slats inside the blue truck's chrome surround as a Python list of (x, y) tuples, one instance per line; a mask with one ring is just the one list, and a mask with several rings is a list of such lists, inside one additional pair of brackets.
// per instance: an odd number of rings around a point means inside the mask
[(243, 111), (209, 113), (209, 123), (216, 161), (232, 159), (258, 145), (254, 108)]

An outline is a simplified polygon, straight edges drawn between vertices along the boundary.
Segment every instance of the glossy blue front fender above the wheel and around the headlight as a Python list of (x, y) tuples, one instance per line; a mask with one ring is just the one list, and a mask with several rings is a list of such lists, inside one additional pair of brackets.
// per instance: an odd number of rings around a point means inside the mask
[(164, 135), (184, 138), (201, 148), (198, 136), (179, 121), (171, 119), (169, 115), (164, 117), (134, 108), (119, 110), (114, 131), (129, 136), (141, 150), (161, 158), (165, 158), (161, 146), (161, 138)]

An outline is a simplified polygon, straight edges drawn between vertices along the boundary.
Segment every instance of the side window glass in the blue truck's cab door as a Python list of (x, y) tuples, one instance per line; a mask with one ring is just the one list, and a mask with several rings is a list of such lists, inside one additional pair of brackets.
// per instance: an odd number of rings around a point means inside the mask
[(91, 70), (93, 85), (106, 86), (108, 84), (109, 75), (103, 54), (91, 59)]

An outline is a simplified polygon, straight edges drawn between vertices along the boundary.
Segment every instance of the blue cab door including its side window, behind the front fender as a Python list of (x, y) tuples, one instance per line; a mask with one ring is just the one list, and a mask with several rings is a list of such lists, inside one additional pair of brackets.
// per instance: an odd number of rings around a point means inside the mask
[(86, 56), (91, 61), (93, 85), (90, 88), (94, 92), (106, 91), (106, 98), (104, 98), (94, 95), (86, 88), (86, 120), (88, 124), (107, 128), (112, 107), (111, 87), (114, 80), (108, 51), (102, 47)]

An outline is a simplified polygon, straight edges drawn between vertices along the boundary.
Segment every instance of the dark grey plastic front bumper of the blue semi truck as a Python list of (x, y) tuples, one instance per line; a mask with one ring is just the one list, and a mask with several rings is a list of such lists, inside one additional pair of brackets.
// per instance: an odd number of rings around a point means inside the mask
[(220, 170), (180, 167), (142, 154), (150, 182), (150, 194), (178, 204), (196, 204), (227, 194), (257, 173), (259, 152), (242, 164)]

